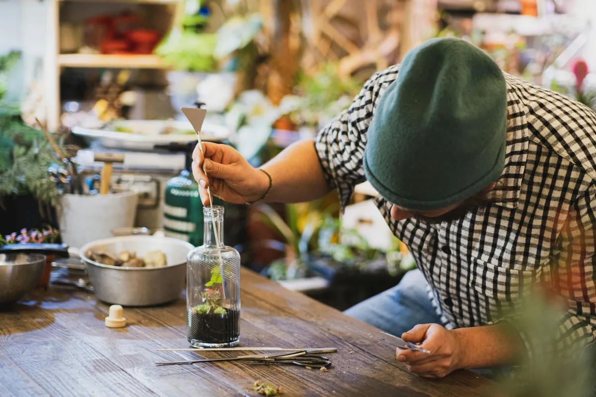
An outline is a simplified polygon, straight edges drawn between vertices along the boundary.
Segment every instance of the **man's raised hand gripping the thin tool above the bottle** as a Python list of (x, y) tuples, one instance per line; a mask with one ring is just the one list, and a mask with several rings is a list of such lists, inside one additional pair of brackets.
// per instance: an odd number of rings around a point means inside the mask
[(229, 145), (203, 142), (204, 157), (198, 145), (193, 152), (193, 176), (203, 205), (211, 194), (232, 204), (257, 201), (269, 188), (269, 177), (257, 170)]

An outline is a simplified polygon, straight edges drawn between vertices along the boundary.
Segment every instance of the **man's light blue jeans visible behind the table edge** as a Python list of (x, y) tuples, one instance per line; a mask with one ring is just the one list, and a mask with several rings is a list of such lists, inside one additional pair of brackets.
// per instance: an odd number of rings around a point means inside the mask
[(420, 270), (408, 271), (395, 287), (344, 313), (395, 336), (401, 336), (417, 324), (441, 324), (426, 292), (427, 285)]

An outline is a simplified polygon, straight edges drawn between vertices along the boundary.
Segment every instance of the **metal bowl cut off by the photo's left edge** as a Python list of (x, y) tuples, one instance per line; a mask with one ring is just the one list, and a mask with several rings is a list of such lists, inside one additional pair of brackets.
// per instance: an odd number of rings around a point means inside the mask
[(0, 304), (23, 298), (44, 274), (45, 255), (0, 254)]

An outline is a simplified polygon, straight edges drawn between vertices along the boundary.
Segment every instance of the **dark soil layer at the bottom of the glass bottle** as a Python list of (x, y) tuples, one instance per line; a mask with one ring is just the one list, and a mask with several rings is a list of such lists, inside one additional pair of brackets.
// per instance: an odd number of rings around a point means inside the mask
[(200, 313), (192, 308), (188, 310), (188, 342), (193, 346), (200, 343), (235, 344), (240, 337), (239, 320), (240, 312), (237, 309), (226, 309), (225, 313), (213, 310)]

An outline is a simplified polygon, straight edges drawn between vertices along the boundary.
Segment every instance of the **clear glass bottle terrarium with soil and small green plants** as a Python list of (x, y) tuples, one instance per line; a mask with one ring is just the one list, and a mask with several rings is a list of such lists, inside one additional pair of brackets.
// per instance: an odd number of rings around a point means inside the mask
[(203, 215), (203, 245), (187, 260), (188, 342), (225, 348), (240, 340), (240, 254), (224, 245), (224, 207)]

